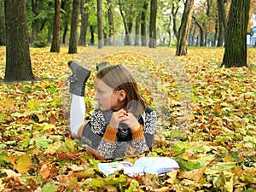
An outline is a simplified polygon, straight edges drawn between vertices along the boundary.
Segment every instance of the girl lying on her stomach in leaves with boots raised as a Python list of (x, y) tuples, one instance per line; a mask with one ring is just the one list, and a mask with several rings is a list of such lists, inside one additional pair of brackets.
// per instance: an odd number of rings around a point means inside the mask
[(114, 65), (98, 69), (94, 84), (99, 108), (85, 124), (84, 87), (90, 70), (75, 62), (69, 62), (69, 67), (73, 71), (71, 132), (81, 137), (81, 143), (104, 159), (142, 154), (152, 148), (156, 114), (139, 94), (127, 67)]

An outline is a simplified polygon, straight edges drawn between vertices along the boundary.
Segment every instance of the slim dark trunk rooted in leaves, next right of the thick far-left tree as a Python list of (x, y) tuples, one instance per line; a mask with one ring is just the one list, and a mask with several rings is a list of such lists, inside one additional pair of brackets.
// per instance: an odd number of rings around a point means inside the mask
[(55, 0), (55, 20), (53, 26), (52, 42), (50, 52), (60, 53), (61, 46), (61, 0)]

